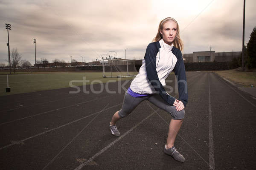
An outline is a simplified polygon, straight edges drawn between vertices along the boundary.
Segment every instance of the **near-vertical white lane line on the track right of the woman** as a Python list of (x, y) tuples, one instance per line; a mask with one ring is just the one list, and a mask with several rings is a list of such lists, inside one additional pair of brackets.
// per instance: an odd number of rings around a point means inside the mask
[(213, 131), (212, 131), (212, 109), (211, 109), (211, 96), (210, 96), (210, 80), (208, 73), (208, 96), (209, 96), (209, 169), (215, 170), (214, 162), (214, 145), (213, 145)]

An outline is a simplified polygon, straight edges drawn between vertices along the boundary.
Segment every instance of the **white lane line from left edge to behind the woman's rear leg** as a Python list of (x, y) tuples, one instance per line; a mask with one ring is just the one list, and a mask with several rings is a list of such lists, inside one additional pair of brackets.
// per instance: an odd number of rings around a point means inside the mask
[[(121, 104), (122, 104), (122, 102), (119, 103), (119, 104), (117, 104), (117, 105), (111, 106), (111, 107), (109, 107), (109, 108), (107, 108), (107, 109), (105, 109), (105, 110), (108, 110), (108, 109), (110, 109), (110, 108), (114, 108), (114, 107), (116, 107), (116, 106), (118, 106), (118, 105), (121, 105)], [(20, 141), (18, 141), (18, 142), (16, 142), (16, 143), (24, 142), (24, 141), (26, 141), (26, 140), (28, 140), (28, 139), (32, 139), (32, 138), (34, 138), (34, 137), (36, 137), (36, 136), (43, 135), (44, 133), (48, 133), (48, 132), (50, 132), (50, 131), (52, 131), (52, 130), (56, 130), (56, 129), (59, 129), (59, 128), (61, 128), (61, 127), (70, 125), (70, 124), (72, 124), (72, 123), (78, 122), (79, 120), (82, 120), (82, 119), (85, 119), (85, 118), (87, 118), (87, 117), (93, 116), (93, 115), (95, 115), (95, 114), (97, 114), (97, 113), (99, 113), (99, 112), (90, 114), (90, 115), (88, 115), (88, 116), (84, 116), (84, 117), (82, 117), (82, 118), (80, 118), (80, 119), (76, 119), (76, 120), (73, 121), (73, 122), (69, 122), (69, 123), (67, 123), (67, 124), (64, 124), (64, 125), (55, 127), (55, 128), (53, 128), (53, 129), (44, 131), (44, 132), (42, 132), (42, 133), (38, 133), (38, 134), (36, 134), (36, 135), (34, 135), (34, 136), (30, 136), (30, 137), (28, 137), (28, 138), (26, 138), (26, 139), (22, 139), (22, 140), (20, 140)], [(6, 145), (6, 146), (4, 146), (4, 147), (0, 147), (0, 150), (4, 149), (4, 148), (6, 148), (6, 147), (10, 147), (10, 146), (12, 146), (12, 145), (14, 145), (14, 144), (16, 144), (16, 143), (12, 143), (12, 144), (8, 144), (8, 145)]]

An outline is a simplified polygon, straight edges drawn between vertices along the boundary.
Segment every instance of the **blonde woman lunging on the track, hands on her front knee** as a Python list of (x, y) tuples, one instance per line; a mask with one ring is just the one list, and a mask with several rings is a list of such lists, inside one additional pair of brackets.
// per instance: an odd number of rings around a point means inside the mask
[[(181, 54), (183, 43), (180, 39), (179, 26), (175, 19), (167, 17), (159, 24), (157, 36), (149, 43), (143, 64), (137, 76), (125, 93), (122, 109), (117, 111), (110, 122), (111, 133), (120, 136), (116, 122), (130, 114), (140, 102), (147, 99), (157, 107), (172, 115), (164, 153), (177, 161), (185, 158), (174, 146), (177, 132), (183, 122), (184, 108), (188, 102), (185, 66)], [(174, 70), (178, 79), (179, 99), (166, 93), (163, 85), (170, 72)]]

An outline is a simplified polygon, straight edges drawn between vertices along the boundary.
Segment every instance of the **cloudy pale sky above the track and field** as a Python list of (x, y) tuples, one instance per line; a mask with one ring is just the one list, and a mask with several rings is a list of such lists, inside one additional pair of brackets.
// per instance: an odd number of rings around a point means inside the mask
[[(245, 45), (256, 26), (255, 0), (246, 0)], [(95, 61), (116, 51), (117, 57), (143, 59), (158, 25), (173, 17), (180, 26), (183, 53), (241, 51), (243, 0), (0, 0), (0, 62), (17, 48), (32, 65), (46, 58)], [(112, 54), (113, 56), (116, 54)], [(106, 57), (106, 56), (103, 56)], [(116, 56), (115, 56), (116, 57)]]

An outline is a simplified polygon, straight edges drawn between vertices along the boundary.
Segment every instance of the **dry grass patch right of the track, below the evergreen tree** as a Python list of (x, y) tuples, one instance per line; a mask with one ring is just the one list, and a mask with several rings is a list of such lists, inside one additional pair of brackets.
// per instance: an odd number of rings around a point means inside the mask
[(243, 71), (236, 71), (236, 69), (232, 70), (224, 70), (224, 71), (212, 71), (219, 74), (221, 77), (225, 79), (231, 80), (236, 82), (240, 85), (245, 87), (249, 87), (253, 85), (256, 87), (256, 72), (243, 72)]

